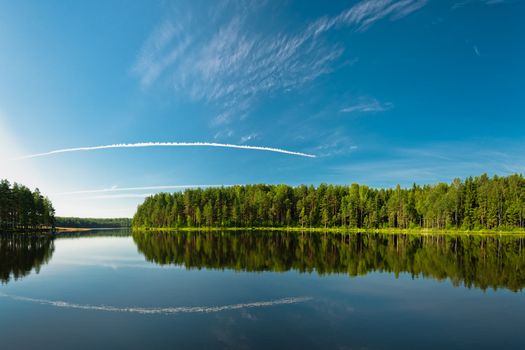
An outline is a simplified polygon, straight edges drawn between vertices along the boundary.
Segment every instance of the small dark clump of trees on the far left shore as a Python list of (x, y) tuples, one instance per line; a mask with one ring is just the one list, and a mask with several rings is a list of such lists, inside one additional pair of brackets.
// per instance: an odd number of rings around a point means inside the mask
[(0, 229), (30, 230), (55, 226), (55, 209), (38, 188), (0, 181)]

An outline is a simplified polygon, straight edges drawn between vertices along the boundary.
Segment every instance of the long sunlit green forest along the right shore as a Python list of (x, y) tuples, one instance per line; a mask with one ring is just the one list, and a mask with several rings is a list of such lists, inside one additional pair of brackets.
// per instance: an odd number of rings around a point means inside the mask
[(150, 196), (134, 227), (525, 227), (525, 179), (486, 174), (410, 188), (366, 185), (237, 185)]

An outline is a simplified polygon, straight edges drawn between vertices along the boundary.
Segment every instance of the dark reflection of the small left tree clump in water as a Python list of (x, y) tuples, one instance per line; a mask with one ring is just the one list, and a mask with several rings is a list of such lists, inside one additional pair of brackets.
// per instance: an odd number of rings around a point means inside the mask
[(53, 238), (24, 234), (0, 234), (0, 281), (8, 283), (27, 276), (51, 260), (55, 250)]

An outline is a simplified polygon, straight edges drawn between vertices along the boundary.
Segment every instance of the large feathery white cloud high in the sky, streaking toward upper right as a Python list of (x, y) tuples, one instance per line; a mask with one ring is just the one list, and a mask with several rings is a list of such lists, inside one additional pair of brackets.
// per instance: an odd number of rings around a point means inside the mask
[(292, 33), (254, 30), (259, 4), (221, 3), (206, 23), (198, 13), (186, 11), (153, 31), (133, 71), (145, 87), (162, 78), (190, 99), (206, 102), (217, 111), (213, 124), (227, 124), (246, 117), (260, 95), (290, 91), (335, 70), (345, 49), (326, 40), (327, 32), (364, 31), (382, 19), (405, 17), (426, 3), (363, 0)]

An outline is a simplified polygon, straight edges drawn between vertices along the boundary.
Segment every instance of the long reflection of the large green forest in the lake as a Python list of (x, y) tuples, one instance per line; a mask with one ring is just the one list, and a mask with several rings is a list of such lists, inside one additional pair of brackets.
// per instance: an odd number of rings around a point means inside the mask
[(241, 271), (372, 271), (450, 279), (455, 286), (525, 286), (525, 238), (267, 232), (134, 232), (147, 260)]

